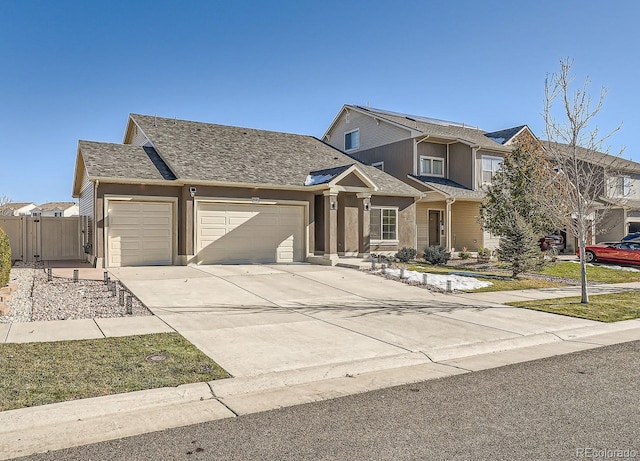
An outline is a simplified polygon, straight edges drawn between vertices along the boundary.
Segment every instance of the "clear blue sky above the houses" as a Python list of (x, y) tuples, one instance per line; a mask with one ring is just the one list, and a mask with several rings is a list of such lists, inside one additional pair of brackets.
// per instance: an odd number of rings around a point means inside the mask
[(342, 104), (543, 134), (574, 60), (640, 161), (640, 2), (0, 0), (0, 195), (71, 199), (79, 139), (131, 112), (321, 137)]

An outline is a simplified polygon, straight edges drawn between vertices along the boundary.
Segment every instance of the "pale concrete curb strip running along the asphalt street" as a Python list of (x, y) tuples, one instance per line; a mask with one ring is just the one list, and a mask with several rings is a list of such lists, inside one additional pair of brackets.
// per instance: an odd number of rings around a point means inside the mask
[(635, 340), (640, 320), (10, 410), (0, 460)]

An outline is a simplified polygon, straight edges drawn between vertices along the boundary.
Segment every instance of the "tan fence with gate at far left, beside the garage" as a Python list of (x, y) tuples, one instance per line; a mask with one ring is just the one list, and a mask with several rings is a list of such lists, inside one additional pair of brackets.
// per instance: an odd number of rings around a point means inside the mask
[(11, 259), (25, 262), (84, 259), (87, 219), (82, 216), (0, 216)]

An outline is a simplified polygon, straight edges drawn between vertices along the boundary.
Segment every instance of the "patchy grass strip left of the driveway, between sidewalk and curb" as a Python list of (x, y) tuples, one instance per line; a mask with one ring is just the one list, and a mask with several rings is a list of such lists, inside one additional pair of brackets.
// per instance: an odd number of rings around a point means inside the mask
[(0, 411), (228, 376), (177, 333), (0, 344)]

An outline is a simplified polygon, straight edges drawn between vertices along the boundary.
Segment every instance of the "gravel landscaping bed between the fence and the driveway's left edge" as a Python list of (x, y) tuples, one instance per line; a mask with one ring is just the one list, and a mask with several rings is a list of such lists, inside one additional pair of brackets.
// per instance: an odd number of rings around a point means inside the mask
[(120, 306), (118, 296), (102, 281), (54, 277), (49, 282), (41, 265), (17, 263), (9, 283), (17, 290), (7, 302), (9, 314), (0, 316), (0, 323), (153, 315), (135, 297), (132, 314), (127, 314), (126, 306)]

